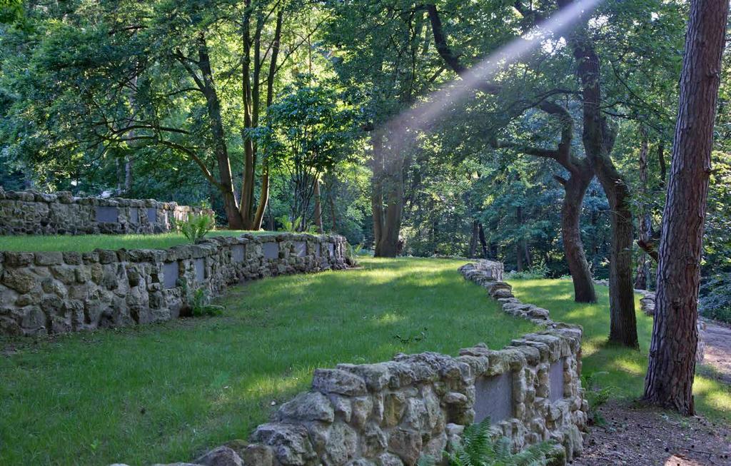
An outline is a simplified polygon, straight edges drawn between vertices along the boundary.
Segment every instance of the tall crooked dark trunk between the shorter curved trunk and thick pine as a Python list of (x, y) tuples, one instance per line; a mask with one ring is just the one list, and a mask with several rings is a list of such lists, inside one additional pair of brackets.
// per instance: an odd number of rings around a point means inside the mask
[[(572, 0), (558, 0), (565, 8)], [(569, 42), (573, 48), (577, 74), (582, 85), (583, 134), (586, 156), (599, 183), (602, 183), (610, 206), (612, 249), (609, 267), (610, 332), (609, 340), (638, 348), (635, 291), (632, 288), (632, 213), (629, 190), (612, 161), (616, 132), (602, 115), (599, 56), (588, 36), (586, 20), (575, 27)]]

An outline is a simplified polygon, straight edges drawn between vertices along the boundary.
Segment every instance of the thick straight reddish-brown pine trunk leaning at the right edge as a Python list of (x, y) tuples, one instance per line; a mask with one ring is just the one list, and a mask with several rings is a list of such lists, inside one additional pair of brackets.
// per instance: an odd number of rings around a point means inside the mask
[(728, 0), (691, 3), (645, 377), (645, 400), (686, 416), (694, 413), (700, 257), (728, 9)]

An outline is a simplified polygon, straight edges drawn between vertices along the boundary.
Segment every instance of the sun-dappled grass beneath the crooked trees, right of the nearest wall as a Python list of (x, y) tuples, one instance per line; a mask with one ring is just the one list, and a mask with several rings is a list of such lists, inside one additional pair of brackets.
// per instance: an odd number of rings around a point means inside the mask
[[(557, 321), (584, 327), (583, 374), (597, 374), (602, 386), (612, 386), (613, 396), (638, 399), (643, 394), (648, 349), (652, 335), (652, 318), (640, 312), (637, 297), (637, 333), (640, 351), (607, 343), (609, 335), (609, 289), (597, 286), (599, 303), (586, 305), (573, 302), (570, 280), (510, 280), (513, 292), (523, 302), (531, 302), (550, 310)], [(712, 378), (708, 368), (700, 367), (695, 378), (694, 395), (697, 410), (713, 419), (731, 421), (731, 387)]]

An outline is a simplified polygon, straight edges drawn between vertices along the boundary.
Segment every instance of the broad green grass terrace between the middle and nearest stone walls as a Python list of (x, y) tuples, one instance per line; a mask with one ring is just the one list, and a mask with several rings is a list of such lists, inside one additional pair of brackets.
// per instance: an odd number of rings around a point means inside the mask
[(232, 288), (219, 317), (0, 340), (0, 465), (190, 460), (245, 439), (317, 367), (500, 348), (535, 330), (463, 280), (461, 264), (363, 259)]

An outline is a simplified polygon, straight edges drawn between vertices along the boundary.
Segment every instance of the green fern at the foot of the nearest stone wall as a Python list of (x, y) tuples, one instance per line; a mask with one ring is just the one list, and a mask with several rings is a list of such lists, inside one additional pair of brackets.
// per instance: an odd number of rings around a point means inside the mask
[[(442, 452), (449, 466), (545, 466), (556, 448), (543, 442), (514, 454), (509, 438), (491, 438), (489, 418), (466, 427), (461, 443), (452, 443), (450, 447), (451, 451)], [(433, 457), (421, 457), (418, 462), (418, 466), (434, 465)]]

